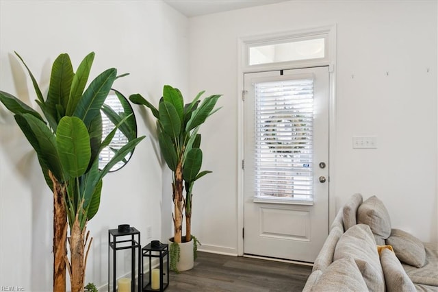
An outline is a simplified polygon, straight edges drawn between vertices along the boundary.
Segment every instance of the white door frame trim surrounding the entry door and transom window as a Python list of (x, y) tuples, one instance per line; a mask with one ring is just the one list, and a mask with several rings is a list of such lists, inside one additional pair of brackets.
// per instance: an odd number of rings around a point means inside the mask
[[(244, 159), (244, 73), (272, 71), (281, 69), (300, 69), (305, 67), (327, 66), (329, 65), (329, 226), (335, 218), (336, 206), (335, 197), (335, 142), (336, 142), (336, 103), (335, 103), (335, 84), (336, 84), (336, 29), (337, 25), (328, 25), (313, 29), (301, 29), (289, 32), (281, 32), (270, 35), (245, 36), (237, 39), (237, 256), (244, 256), (244, 171), (240, 162)], [(302, 36), (303, 34), (327, 34), (327, 46), (329, 46), (328, 58), (320, 62), (311, 60), (306, 62), (291, 62), (291, 64), (268, 64), (265, 68), (257, 66), (257, 69), (250, 69), (244, 64), (246, 53), (244, 51), (248, 42), (263, 42), (272, 38), (284, 38)], [(327, 226), (327, 228), (329, 228)]]

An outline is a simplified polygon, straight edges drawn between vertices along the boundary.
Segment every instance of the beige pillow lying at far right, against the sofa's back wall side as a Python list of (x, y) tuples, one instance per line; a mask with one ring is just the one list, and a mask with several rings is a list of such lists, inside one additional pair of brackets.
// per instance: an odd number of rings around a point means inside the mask
[(386, 243), (392, 245), (397, 258), (403, 263), (414, 267), (424, 266), (426, 250), (420, 239), (403, 230), (393, 229)]

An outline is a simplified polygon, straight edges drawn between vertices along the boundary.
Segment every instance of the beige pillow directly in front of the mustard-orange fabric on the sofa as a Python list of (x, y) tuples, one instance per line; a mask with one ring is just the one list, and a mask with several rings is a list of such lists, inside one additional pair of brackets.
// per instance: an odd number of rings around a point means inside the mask
[(400, 260), (394, 252), (385, 248), (381, 251), (381, 263), (385, 275), (386, 290), (388, 292), (415, 292), (412, 280), (404, 271)]

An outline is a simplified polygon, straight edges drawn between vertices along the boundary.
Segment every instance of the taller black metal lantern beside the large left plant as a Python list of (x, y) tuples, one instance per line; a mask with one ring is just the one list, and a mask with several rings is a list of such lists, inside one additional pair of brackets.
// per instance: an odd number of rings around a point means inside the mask
[[(108, 243), (108, 292), (117, 291), (116, 279), (125, 274), (125, 270), (117, 273), (117, 268), (120, 269), (126, 264), (128, 267), (131, 266), (131, 279), (130, 281), (129, 278), (120, 279), (118, 291), (136, 291), (136, 277), (138, 279), (137, 291), (140, 291), (140, 287), (142, 287), (140, 231), (127, 224), (119, 225), (117, 229), (108, 230)], [(131, 250), (131, 253), (119, 253), (123, 254), (124, 257), (123, 260), (117, 260), (116, 252), (120, 250)]]

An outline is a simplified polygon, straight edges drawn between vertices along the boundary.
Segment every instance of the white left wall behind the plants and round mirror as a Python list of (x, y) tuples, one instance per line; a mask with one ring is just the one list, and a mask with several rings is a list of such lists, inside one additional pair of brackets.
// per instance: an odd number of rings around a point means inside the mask
[[(43, 91), (51, 64), (68, 53), (76, 69), (90, 51), (96, 52), (91, 77), (116, 67), (131, 75), (116, 80), (125, 95), (142, 93), (158, 101), (162, 86), (188, 88), (188, 20), (162, 1), (1, 1), (0, 88), (38, 108), (36, 96), (17, 51), (27, 62)], [(27, 85), (27, 86), (26, 86)], [(86, 282), (107, 282), (107, 230), (129, 223), (146, 238), (170, 235), (170, 194), (162, 197), (162, 165), (155, 122), (146, 110), (138, 114), (139, 135), (146, 138), (129, 164), (109, 173), (103, 182), (101, 206), (88, 224), (94, 242)], [(0, 285), (25, 291), (52, 287), (52, 197), (42, 178), (36, 154), (0, 106)], [(162, 226), (162, 217), (164, 226)], [(164, 230), (164, 231), (162, 231)], [(166, 234), (162, 234), (166, 233)]]

